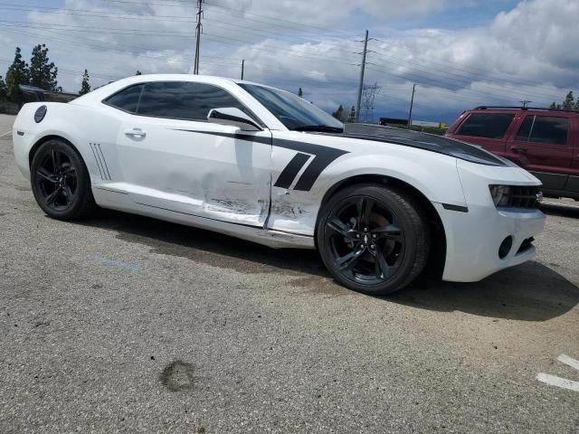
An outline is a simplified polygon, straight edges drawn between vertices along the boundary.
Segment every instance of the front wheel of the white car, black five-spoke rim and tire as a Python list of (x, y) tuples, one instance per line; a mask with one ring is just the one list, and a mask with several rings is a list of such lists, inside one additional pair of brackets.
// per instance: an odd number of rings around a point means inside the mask
[(411, 194), (358, 184), (334, 194), (320, 212), (318, 250), (346, 288), (384, 296), (409, 285), (424, 269), (430, 230)]

